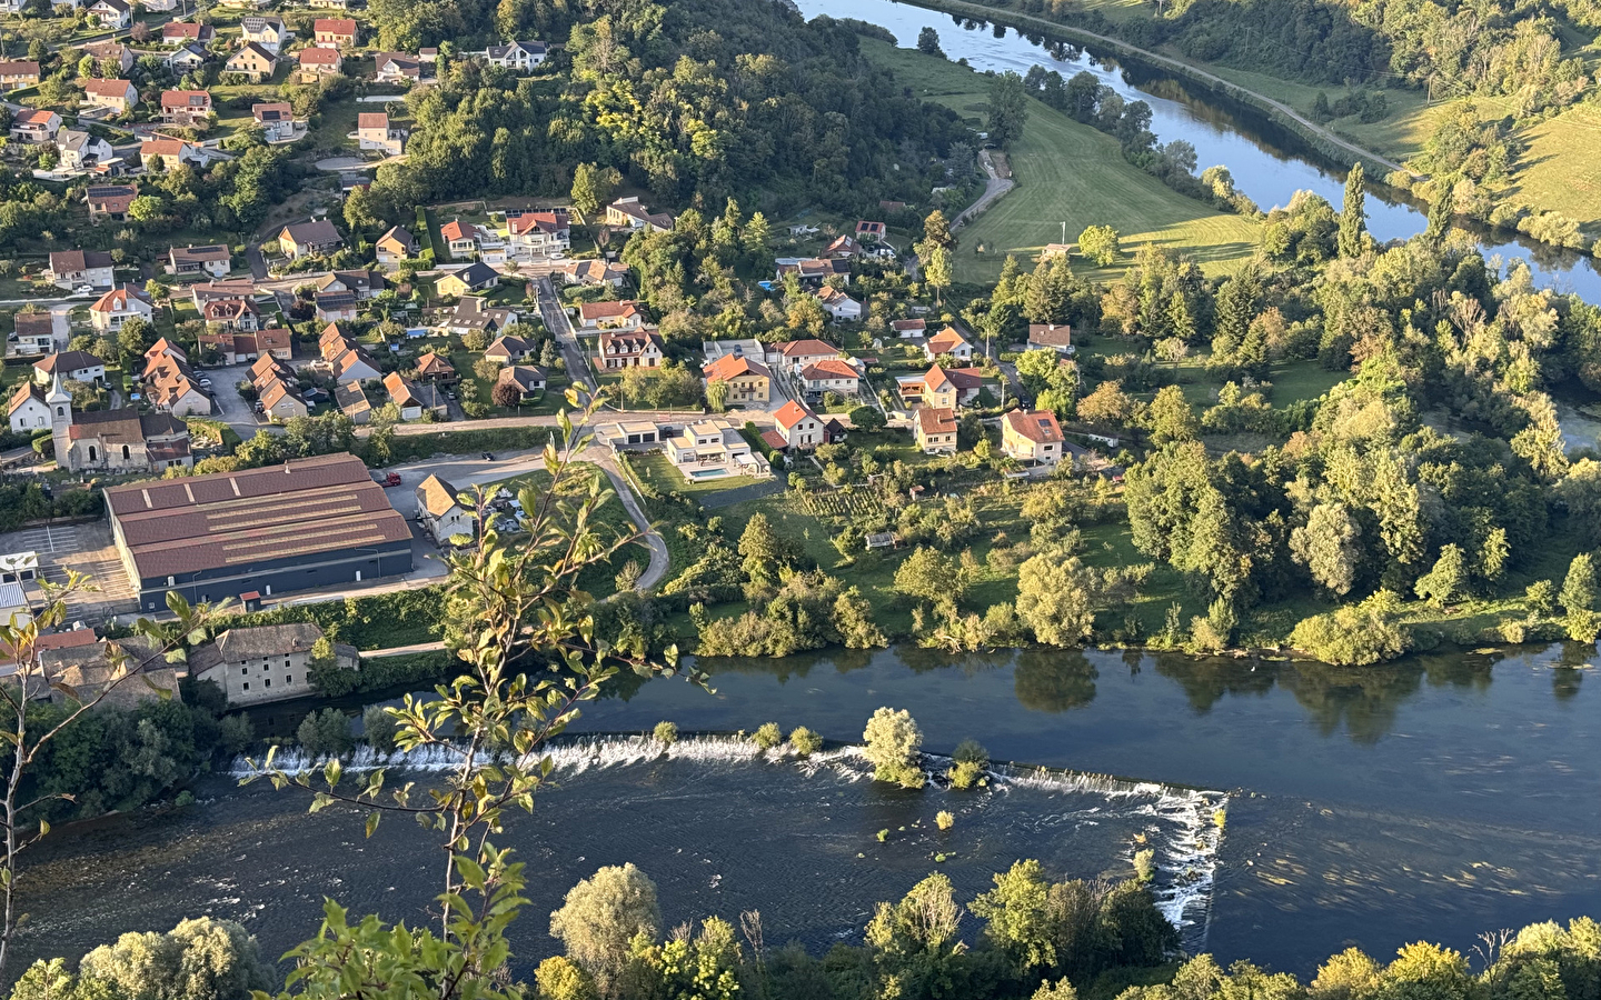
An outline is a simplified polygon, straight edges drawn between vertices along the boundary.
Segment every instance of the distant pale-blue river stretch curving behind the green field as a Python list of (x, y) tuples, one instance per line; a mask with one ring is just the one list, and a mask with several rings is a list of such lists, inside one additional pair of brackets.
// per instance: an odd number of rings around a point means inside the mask
[[(1263, 210), (1287, 205), (1297, 190), (1313, 190), (1338, 211), (1345, 197), (1345, 171), (1322, 163), (1305, 150), (1295, 136), (1265, 123), (1244, 110), (1234, 114), (1188, 88), (1183, 80), (1140, 67), (1129, 74), (1114, 58), (1098, 54), (1095, 46), (1071, 46), (1069, 58), (1058, 58), (1050, 48), (1029, 40), (1010, 27), (991, 27), (973, 21), (897, 0), (794, 0), (807, 18), (855, 18), (889, 29), (897, 43), (911, 48), (922, 27), (940, 32), (940, 48), (951, 59), (967, 59), (977, 70), (1017, 70), (1031, 66), (1058, 70), (1063, 77), (1090, 72), (1130, 101), (1151, 106), (1151, 131), (1159, 142), (1185, 139), (1196, 147), (1199, 168), (1228, 166), (1234, 186), (1250, 195)], [(1026, 178), (1025, 178), (1026, 182)], [(1378, 240), (1406, 238), (1423, 232), (1428, 219), (1404, 202), (1369, 189), (1367, 229)], [(1071, 234), (1069, 234), (1071, 235)], [(1486, 258), (1529, 262), (1535, 282), (1563, 293), (1579, 293), (1590, 302), (1601, 302), (1601, 274), (1591, 258), (1555, 250), (1532, 240), (1481, 240)]]

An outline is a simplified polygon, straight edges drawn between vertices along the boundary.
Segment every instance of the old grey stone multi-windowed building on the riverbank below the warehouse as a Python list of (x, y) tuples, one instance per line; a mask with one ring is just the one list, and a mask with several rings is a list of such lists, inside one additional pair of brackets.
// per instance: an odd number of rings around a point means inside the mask
[[(312, 651), (322, 638), (322, 627), (306, 621), (229, 629), (189, 653), (189, 675), (216, 683), (231, 706), (304, 698), (315, 691)], [(335, 643), (333, 666), (357, 669), (355, 648)]]

